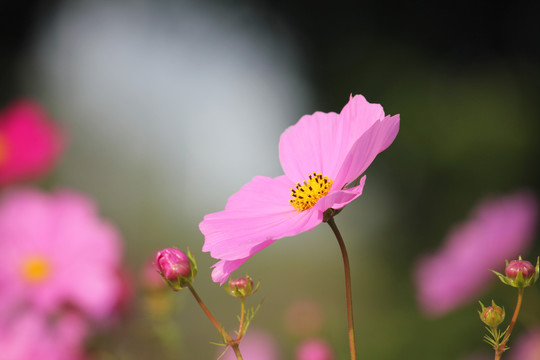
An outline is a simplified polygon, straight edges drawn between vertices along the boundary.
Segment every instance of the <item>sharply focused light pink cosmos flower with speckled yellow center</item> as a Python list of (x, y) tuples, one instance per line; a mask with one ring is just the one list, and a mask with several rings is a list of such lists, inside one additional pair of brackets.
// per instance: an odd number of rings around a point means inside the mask
[(285, 175), (256, 176), (232, 195), (224, 211), (204, 217), (203, 251), (216, 259), (212, 279), (223, 284), (253, 254), (276, 239), (315, 228), (323, 213), (341, 209), (362, 194), (367, 169), (394, 141), (399, 115), (379, 104), (351, 97), (340, 114), (303, 116), (281, 135), (279, 157)]

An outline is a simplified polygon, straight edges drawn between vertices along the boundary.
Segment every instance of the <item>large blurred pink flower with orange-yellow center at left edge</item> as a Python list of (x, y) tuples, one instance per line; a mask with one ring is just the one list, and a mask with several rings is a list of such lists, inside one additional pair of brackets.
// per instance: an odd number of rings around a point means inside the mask
[(93, 202), (74, 192), (32, 189), (0, 200), (0, 317), (69, 305), (108, 317), (122, 296), (119, 234)]

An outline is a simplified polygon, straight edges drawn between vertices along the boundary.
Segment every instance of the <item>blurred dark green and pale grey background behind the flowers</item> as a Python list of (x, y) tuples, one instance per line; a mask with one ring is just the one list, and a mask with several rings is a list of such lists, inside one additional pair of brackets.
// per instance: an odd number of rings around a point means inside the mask
[[(123, 235), (134, 279), (157, 250), (189, 247), (196, 287), (226, 326), (238, 304), (211, 282), (204, 214), (253, 176), (281, 174), (279, 135), (303, 114), (339, 112), (351, 93), (401, 114), (364, 195), (336, 219), (361, 358), (465, 359), (489, 354), (477, 304), (424, 315), (412, 269), (482, 198), (540, 190), (539, 11), (532, 1), (4, 1), (0, 102), (37, 99), (66, 129), (66, 152), (39, 186), (96, 199)], [(317, 304), (315, 335), (347, 358), (342, 264), (327, 226), (276, 242), (245, 272), (262, 282), (252, 326), (283, 359), (301, 340), (287, 325), (299, 301)], [(219, 338), (188, 293), (175, 294), (169, 348), (136, 294), (129, 315), (90, 345), (99, 356), (217, 357)], [(481, 299), (512, 308), (513, 296), (494, 283)], [(537, 308), (525, 303), (529, 321)]]

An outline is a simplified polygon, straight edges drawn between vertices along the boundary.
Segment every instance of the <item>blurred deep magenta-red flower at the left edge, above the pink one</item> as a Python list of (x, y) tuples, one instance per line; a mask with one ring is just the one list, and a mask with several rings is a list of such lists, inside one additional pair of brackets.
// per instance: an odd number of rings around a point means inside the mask
[(11, 104), (0, 113), (0, 186), (43, 175), (57, 160), (62, 143), (38, 103)]

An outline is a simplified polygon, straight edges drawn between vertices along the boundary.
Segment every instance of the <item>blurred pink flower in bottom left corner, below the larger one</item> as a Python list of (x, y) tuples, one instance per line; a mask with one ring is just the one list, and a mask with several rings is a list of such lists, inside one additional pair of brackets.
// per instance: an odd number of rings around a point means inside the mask
[(49, 319), (26, 312), (16, 322), (0, 326), (0, 359), (82, 360), (85, 320), (74, 313)]

